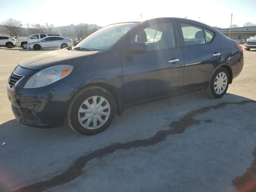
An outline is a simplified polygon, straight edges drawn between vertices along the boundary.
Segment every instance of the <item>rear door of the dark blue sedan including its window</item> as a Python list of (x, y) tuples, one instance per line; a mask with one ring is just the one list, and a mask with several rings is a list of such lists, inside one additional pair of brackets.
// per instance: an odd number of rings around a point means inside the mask
[(180, 22), (184, 53), (184, 86), (188, 90), (204, 87), (221, 63), (221, 46), (216, 33), (190, 22)]

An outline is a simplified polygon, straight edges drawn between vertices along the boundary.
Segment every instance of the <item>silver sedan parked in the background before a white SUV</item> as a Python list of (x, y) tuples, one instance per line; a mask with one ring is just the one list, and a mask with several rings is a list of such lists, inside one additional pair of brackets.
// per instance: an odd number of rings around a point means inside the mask
[(28, 42), (26, 44), (27, 49), (40, 50), (44, 48), (66, 48), (73, 46), (71, 39), (60, 36), (48, 36), (38, 41)]

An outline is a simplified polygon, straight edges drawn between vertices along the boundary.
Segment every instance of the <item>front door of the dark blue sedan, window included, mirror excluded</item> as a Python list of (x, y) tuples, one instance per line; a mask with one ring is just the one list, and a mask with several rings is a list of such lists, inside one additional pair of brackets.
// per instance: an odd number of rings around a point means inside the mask
[[(144, 43), (145, 52), (131, 52), (129, 44)], [(133, 104), (179, 92), (184, 60), (175, 20), (150, 23), (122, 49), (124, 100)]]

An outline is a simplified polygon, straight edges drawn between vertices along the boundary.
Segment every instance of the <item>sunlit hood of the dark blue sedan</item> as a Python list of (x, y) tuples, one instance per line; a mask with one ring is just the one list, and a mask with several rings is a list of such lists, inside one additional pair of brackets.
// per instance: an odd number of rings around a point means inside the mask
[(73, 65), (91, 60), (98, 51), (72, 51), (67, 49), (49, 51), (24, 60), (20, 63), (22, 68), (42, 70), (54, 65)]

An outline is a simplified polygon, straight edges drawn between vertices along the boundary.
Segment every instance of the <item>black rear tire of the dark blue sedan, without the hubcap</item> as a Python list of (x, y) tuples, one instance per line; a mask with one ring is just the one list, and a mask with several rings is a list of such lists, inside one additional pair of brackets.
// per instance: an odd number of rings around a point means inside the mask
[[(214, 81), (215, 81), (215, 78), (218, 74), (220, 74), (221, 72), (225, 73), (226, 74), (226, 77), (227, 77), (227, 85), (226, 85), (226, 88), (225, 90), (221, 93), (221, 94), (217, 94), (215, 89), (214, 89)], [(212, 75), (212, 78), (207, 86), (207, 88), (205, 89), (205, 92), (206, 94), (210, 97), (210, 98), (221, 98), (222, 96), (224, 96), (224, 94), (226, 94), (227, 90), (228, 90), (228, 85), (229, 85), (229, 74), (228, 74), (228, 71), (224, 68), (224, 67), (220, 67), (218, 68), (214, 74)]]

